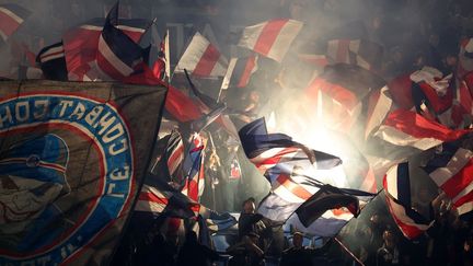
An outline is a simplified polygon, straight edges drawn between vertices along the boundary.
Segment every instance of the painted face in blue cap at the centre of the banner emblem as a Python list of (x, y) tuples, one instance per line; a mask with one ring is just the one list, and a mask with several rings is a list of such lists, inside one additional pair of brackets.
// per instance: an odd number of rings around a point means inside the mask
[(48, 134), (14, 143), (2, 155), (0, 245), (31, 251), (50, 243), (65, 225), (55, 201), (71, 190), (66, 178), (66, 142)]

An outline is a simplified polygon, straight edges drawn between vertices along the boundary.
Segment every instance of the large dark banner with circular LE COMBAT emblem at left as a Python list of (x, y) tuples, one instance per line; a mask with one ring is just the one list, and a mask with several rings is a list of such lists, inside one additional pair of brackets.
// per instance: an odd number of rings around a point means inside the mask
[(100, 82), (0, 82), (0, 265), (109, 258), (165, 93)]

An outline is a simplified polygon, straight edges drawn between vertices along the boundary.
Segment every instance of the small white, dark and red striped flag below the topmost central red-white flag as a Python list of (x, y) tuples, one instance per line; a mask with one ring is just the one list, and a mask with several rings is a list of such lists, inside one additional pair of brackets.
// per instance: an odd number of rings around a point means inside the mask
[(227, 73), (221, 85), (222, 90), (229, 86), (245, 88), (251, 76), (257, 70), (257, 56), (230, 59)]

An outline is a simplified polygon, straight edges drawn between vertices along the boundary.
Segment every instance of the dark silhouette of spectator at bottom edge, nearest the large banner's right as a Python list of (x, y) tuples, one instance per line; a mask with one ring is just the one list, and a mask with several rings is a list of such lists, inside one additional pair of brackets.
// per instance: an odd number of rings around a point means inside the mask
[(177, 255), (177, 266), (208, 266), (210, 261), (217, 261), (219, 254), (216, 251), (197, 242), (197, 234), (194, 231), (186, 233), (186, 240)]

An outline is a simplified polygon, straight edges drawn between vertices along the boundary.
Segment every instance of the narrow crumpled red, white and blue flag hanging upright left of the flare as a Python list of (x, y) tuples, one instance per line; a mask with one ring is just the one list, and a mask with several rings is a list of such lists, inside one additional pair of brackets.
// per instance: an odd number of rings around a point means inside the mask
[(185, 154), (183, 162), (184, 186), (181, 189), (184, 195), (198, 201), (204, 193), (204, 142), (198, 134), (193, 135), (193, 139)]

